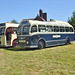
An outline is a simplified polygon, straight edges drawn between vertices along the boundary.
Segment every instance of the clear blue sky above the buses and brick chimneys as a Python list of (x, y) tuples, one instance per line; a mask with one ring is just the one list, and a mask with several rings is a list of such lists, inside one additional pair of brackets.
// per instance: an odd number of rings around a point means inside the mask
[(0, 23), (35, 18), (40, 9), (47, 12), (48, 21), (67, 22), (75, 11), (75, 0), (0, 0)]

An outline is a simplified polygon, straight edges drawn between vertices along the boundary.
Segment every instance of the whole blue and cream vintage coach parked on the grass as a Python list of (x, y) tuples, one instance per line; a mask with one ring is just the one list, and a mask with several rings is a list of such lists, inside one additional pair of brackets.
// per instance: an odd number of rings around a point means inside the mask
[(74, 28), (62, 21), (22, 21), (18, 27), (18, 46), (44, 48), (70, 44), (74, 41)]

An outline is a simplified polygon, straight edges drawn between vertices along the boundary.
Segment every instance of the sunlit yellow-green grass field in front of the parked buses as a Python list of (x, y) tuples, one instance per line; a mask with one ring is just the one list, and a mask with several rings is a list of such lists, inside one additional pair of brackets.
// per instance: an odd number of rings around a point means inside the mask
[(75, 75), (75, 42), (41, 50), (0, 48), (0, 75)]

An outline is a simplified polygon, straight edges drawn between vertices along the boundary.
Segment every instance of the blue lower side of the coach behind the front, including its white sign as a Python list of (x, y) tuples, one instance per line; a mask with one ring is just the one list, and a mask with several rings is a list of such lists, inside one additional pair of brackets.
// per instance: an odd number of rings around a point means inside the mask
[[(40, 36), (38, 38), (38, 35)], [(45, 40), (46, 46), (65, 44), (66, 38), (74, 41), (74, 34), (38, 34), (31, 36), (31, 45), (38, 45), (40, 39)], [(32, 43), (33, 42), (33, 43)]]

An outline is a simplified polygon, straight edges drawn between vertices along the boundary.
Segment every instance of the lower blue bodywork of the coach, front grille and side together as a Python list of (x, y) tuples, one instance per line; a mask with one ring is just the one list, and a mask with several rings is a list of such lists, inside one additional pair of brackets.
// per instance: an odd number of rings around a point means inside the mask
[(38, 47), (38, 41), (43, 39), (45, 41), (46, 47), (61, 45), (66, 43), (66, 38), (70, 41), (74, 41), (74, 34), (34, 34), (30, 36), (18, 36), (18, 46), (20, 47)]

